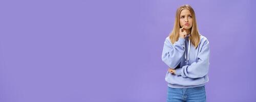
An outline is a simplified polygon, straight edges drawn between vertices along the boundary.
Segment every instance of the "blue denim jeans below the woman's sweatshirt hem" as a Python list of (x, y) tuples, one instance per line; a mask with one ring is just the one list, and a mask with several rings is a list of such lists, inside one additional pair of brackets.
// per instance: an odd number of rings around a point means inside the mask
[(204, 86), (194, 88), (170, 88), (168, 87), (167, 102), (173, 101), (206, 101)]

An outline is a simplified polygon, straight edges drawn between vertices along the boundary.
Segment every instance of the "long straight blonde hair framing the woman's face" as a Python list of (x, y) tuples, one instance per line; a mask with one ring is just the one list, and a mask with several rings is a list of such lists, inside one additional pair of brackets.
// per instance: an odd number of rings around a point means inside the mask
[(187, 9), (190, 11), (193, 19), (193, 25), (192, 28), (190, 28), (190, 41), (191, 43), (197, 48), (199, 42), (200, 42), (200, 35), (197, 27), (197, 20), (196, 20), (196, 14), (193, 8), (189, 5), (182, 5), (180, 8), (177, 9), (176, 11), (176, 17), (175, 17), (175, 22), (174, 22), (174, 29), (172, 33), (169, 34), (169, 39), (172, 41), (174, 44), (176, 41), (179, 40), (179, 32), (180, 32), (180, 13), (182, 10)]

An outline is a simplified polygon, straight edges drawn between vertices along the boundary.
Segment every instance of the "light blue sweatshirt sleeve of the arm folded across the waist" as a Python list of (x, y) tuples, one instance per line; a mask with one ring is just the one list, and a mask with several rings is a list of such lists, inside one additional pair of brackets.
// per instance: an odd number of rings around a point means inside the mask
[(185, 65), (176, 69), (176, 75), (181, 75), (183, 78), (202, 78), (209, 70), (209, 42), (204, 41), (201, 52), (198, 54), (198, 61), (191, 65)]

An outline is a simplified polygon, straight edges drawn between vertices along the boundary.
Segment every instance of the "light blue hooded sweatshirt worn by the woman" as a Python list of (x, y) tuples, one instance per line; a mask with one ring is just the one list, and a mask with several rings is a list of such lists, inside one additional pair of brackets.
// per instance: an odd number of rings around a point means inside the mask
[(179, 38), (174, 44), (172, 44), (169, 37), (165, 39), (162, 61), (169, 68), (176, 69), (176, 74), (168, 71), (166, 73), (165, 81), (168, 82), (169, 87), (198, 87), (204, 86), (209, 81), (207, 75), (210, 55), (209, 41), (206, 37), (200, 35), (200, 43), (195, 48), (188, 37)]

